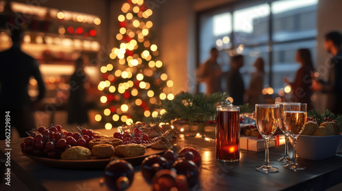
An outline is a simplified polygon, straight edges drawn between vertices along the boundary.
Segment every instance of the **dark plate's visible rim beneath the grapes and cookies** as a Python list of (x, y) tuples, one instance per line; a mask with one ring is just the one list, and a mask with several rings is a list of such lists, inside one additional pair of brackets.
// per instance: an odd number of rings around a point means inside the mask
[[(119, 158), (122, 160), (126, 160), (131, 163), (133, 166), (140, 165), (142, 161), (151, 155), (154, 154), (162, 154), (166, 149), (158, 150), (147, 148), (145, 154), (143, 156), (135, 156), (128, 158)], [(53, 158), (43, 158), (38, 156), (31, 156), (27, 153), (21, 151), (25, 156), (31, 158), (32, 160), (36, 160), (47, 166), (57, 167), (57, 168), (72, 168), (72, 169), (98, 169), (105, 168), (105, 166), (110, 162), (109, 158), (106, 159), (90, 159), (90, 160), (62, 160), (62, 159), (53, 159)]]

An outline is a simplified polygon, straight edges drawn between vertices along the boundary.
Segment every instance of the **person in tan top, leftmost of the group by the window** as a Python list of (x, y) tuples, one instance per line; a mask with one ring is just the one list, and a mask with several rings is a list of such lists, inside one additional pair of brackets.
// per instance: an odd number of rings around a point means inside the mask
[(205, 63), (200, 65), (200, 68), (198, 68), (197, 78), (200, 79), (200, 82), (204, 82), (206, 84), (206, 93), (208, 95), (211, 93), (222, 91), (222, 71), (220, 65), (218, 65), (217, 59), (218, 49), (211, 48), (210, 58)]

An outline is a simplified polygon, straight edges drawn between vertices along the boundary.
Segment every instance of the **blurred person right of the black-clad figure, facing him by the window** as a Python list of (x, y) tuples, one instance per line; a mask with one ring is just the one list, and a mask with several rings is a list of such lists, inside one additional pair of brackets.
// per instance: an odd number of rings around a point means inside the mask
[(246, 90), (248, 104), (254, 107), (255, 104), (263, 103), (263, 76), (265, 76), (265, 61), (261, 57), (257, 58), (253, 64), (256, 71), (251, 75), (250, 87)]

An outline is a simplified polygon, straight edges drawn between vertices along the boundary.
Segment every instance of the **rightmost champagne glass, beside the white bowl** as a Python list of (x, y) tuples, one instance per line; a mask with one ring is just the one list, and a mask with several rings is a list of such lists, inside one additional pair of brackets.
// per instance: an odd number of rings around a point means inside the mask
[(284, 123), (289, 136), (291, 136), (293, 140), (293, 162), (285, 164), (284, 168), (293, 171), (304, 170), (305, 166), (302, 166), (297, 162), (295, 151), (297, 138), (302, 134), (306, 123), (306, 104), (284, 104)]

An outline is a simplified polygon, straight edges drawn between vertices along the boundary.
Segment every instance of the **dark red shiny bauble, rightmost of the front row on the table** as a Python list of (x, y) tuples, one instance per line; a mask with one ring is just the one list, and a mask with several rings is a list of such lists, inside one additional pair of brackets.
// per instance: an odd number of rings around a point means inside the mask
[(172, 168), (176, 170), (178, 175), (185, 175), (189, 187), (193, 187), (198, 182), (200, 173), (194, 162), (191, 160), (177, 160), (174, 162)]

